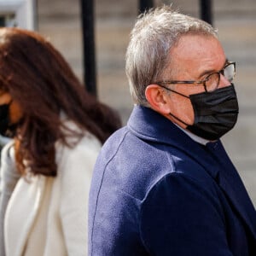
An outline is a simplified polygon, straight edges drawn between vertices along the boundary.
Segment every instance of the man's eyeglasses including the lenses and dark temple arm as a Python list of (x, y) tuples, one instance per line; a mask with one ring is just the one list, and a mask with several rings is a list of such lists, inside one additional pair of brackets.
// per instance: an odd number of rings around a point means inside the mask
[(225, 79), (232, 82), (236, 75), (236, 62), (227, 61), (223, 69), (216, 73), (211, 73), (206, 79), (201, 81), (160, 81), (155, 84), (166, 85), (166, 84), (203, 84), (206, 91), (212, 91), (218, 89), (220, 74), (224, 76)]

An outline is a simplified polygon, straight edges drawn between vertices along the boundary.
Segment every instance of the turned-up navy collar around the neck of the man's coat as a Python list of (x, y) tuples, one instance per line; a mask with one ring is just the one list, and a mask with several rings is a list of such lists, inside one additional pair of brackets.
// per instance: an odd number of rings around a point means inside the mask
[(212, 157), (206, 154), (206, 146), (196, 143), (188, 134), (160, 113), (151, 108), (135, 106), (127, 126), (137, 137), (172, 145), (172, 147), (182, 150), (203, 166), (214, 179), (218, 177), (219, 170), (214, 165)]

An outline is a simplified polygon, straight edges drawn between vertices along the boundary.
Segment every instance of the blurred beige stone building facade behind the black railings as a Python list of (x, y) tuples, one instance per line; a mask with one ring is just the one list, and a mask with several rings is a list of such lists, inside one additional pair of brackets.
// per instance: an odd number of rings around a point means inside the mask
[[(174, 9), (199, 17), (197, 0), (173, 0)], [(171, 1), (155, 0), (155, 5)], [(132, 109), (125, 77), (125, 49), (138, 12), (136, 0), (96, 0), (96, 72), (98, 97), (116, 108), (125, 125)], [(236, 61), (240, 116), (223, 137), (256, 206), (256, 1), (212, 0), (213, 26), (230, 61)], [(83, 53), (79, 0), (38, 0), (38, 31), (66, 57), (79, 79)]]

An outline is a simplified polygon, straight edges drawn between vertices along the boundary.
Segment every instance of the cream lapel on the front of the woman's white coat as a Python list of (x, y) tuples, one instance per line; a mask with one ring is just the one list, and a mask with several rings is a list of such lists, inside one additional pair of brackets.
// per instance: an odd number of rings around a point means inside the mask
[(45, 177), (43, 176), (32, 177), (29, 181), (22, 177), (17, 183), (4, 220), (7, 255), (19, 256), (23, 253), (44, 189)]

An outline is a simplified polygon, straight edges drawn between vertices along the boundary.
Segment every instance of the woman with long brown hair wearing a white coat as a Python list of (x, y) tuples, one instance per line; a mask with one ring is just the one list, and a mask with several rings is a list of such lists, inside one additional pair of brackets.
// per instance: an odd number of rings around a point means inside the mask
[(2, 256), (87, 254), (90, 174), (119, 126), (47, 40), (0, 28)]

